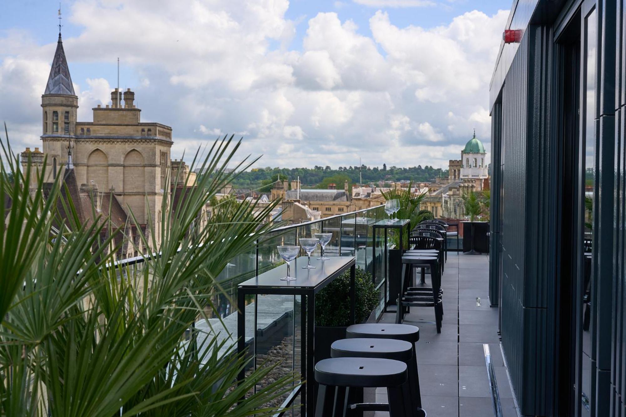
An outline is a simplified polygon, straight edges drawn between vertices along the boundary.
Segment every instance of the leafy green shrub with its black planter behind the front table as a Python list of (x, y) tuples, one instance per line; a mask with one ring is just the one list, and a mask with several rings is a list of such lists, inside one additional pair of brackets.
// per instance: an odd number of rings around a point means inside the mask
[[(372, 274), (356, 269), (356, 322), (373, 321), (372, 312), (379, 304), (379, 294)], [(331, 357), (332, 342), (346, 337), (350, 324), (350, 272), (344, 272), (316, 296), (315, 304), (316, 361)]]

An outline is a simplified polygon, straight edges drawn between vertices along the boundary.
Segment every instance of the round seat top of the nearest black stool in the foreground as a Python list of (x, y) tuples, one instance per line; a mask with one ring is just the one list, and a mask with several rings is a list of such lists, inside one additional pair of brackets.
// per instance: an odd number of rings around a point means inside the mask
[(406, 364), (392, 359), (331, 358), (315, 366), (319, 384), (371, 388), (401, 386), (406, 383)]

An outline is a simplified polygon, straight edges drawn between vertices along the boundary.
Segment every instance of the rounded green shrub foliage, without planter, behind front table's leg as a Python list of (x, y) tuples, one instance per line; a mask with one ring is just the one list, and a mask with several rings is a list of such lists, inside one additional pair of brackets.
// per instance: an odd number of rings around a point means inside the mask
[[(356, 322), (367, 320), (378, 305), (378, 292), (369, 272), (356, 269)], [(341, 274), (316, 296), (316, 326), (348, 326), (350, 324), (350, 271)]]

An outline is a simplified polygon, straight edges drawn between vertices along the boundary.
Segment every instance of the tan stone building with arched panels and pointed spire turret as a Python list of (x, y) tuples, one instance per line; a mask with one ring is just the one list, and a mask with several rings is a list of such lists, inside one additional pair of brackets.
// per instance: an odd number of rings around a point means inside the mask
[[(134, 100), (130, 88), (123, 93), (116, 88), (111, 92), (111, 105), (92, 109), (93, 121), (78, 121), (78, 96), (59, 33), (48, 84), (41, 96), (42, 151), (27, 148), (21, 160), (23, 165), (30, 160), (44, 169), (46, 182), (58, 175), (65, 178), (66, 171), (71, 170), (79, 189), (111, 195), (126, 215), (132, 212), (144, 226), (149, 212), (158, 231), (159, 210), (170, 188), (172, 128), (142, 123)], [(44, 156), (48, 158), (45, 167)], [(187, 177), (184, 163), (176, 165)], [(160, 237), (156, 238), (160, 242)]]

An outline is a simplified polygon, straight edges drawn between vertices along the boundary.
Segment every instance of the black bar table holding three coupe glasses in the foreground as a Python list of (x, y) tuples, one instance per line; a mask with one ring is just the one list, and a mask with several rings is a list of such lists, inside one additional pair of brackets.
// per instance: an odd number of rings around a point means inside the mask
[[(311, 265), (315, 269), (304, 269), (307, 264), (307, 257), (297, 257), (291, 262), (291, 276), (295, 281), (282, 281), (281, 278), (287, 275), (287, 265), (282, 264), (263, 274), (250, 278), (237, 286), (237, 352), (242, 354), (245, 347), (245, 296), (247, 294), (278, 294), (287, 296), (302, 296), (300, 308), (302, 309), (300, 319), (302, 320), (302, 337), (300, 354), (300, 373), (304, 382), (302, 393), (302, 408), (305, 408), (307, 416), (313, 416), (315, 410), (315, 384), (307, 383), (307, 378), (313, 381), (315, 352), (315, 296), (316, 294), (334, 279), (339, 277), (347, 269), (350, 269), (350, 323), (355, 320), (356, 291), (354, 287), (354, 272), (356, 268), (356, 258), (354, 256), (335, 256), (330, 260), (317, 260), (311, 258)], [(307, 314), (308, 312), (308, 314)], [(306, 321), (304, 317), (307, 317)], [(256, 352), (254, 352), (256, 354)], [(245, 378), (245, 371), (239, 373), (239, 381)], [(309, 401), (307, 401), (307, 398)], [(302, 411), (304, 415), (304, 410)]]

